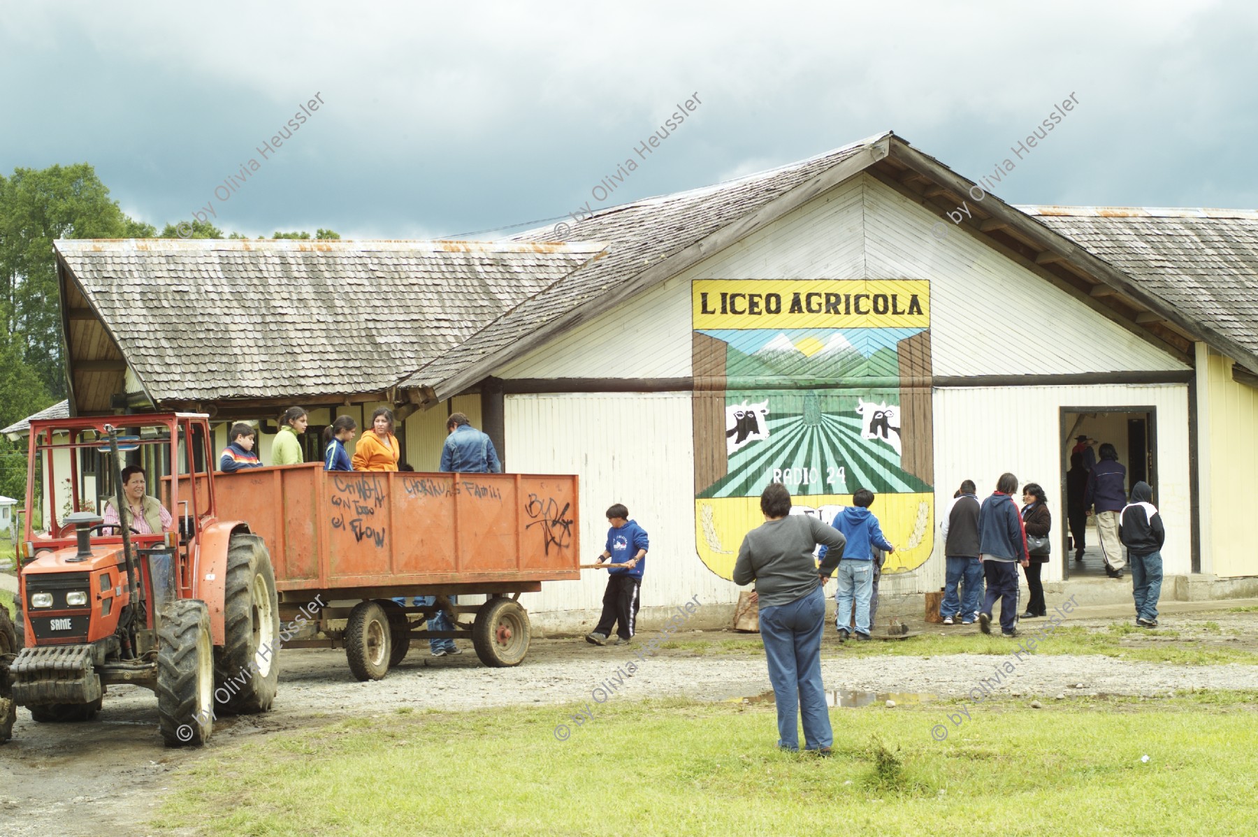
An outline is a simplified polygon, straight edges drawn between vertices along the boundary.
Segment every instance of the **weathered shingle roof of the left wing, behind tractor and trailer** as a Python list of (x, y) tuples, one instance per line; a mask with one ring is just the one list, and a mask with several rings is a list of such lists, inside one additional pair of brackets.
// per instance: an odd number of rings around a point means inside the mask
[[(385, 391), (601, 244), (58, 241), (79, 412), (106, 410), (96, 326), (153, 405)], [(104, 357), (103, 354), (101, 357)], [(113, 363), (117, 363), (114, 361)], [(87, 401), (87, 402), (86, 402)]]

